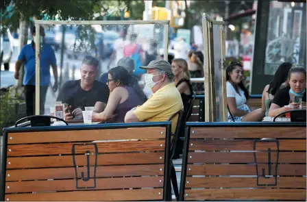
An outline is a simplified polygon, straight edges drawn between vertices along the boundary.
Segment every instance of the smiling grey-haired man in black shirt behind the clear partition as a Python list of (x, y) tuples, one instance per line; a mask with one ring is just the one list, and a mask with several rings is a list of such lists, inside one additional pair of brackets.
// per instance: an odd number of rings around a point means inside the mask
[(106, 84), (95, 81), (98, 73), (98, 60), (86, 56), (80, 68), (81, 79), (67, 81), (61, 88), (57, 101), (67, 103), (65, 119), (81, 118), (84, 107), (93, 107), (94, 112), (102, 112), (106, 108), (110, 90)]

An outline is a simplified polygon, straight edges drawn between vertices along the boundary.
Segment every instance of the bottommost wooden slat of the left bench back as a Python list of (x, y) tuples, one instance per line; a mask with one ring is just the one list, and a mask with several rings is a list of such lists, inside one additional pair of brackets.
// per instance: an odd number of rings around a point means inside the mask
[(5, 194), (5, 200), (10, 201), (144, 201), (162, 200), (162, 197), (163, 189)]

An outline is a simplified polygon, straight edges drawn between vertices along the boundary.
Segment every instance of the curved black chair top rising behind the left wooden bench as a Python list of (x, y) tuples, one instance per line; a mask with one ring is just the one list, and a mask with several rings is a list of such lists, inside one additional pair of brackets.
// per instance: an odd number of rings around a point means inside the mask
[(19, 119), (19, 121), (16, 121), (15, 127), (18, 127), (19, 123), (26, 120), (31, 122), (31, 127), (50, 126), (51, 118), (56, 118), (58, 121), (62, 121), (66, 125), (69, 125), (64, 119), (58, 118), (56, 116), (34, 115), (34, 116), (26, 116), (24, 118)]

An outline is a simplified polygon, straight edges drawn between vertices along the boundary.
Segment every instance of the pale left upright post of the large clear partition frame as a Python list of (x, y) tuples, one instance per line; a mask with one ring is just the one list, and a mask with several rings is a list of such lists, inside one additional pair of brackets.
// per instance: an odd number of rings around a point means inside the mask
[(40, 24), (35, 23), (35, 115), (40, 115)]

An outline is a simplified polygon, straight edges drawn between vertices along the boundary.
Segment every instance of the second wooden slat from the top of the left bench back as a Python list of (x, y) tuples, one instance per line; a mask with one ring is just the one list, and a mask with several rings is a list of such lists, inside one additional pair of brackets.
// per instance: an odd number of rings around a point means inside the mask
[[(88, 143), (88, 142), (86, 142)], [(78, 144), (82, 144), (79, 142)], [(160, 146), (162, 144), (162, 147)], [(164, 151), (165, 140), (142, 140), (125, 142), (99, 142), (99, 153), (123, 153), (132, 151)], [(16, 144), (8, 145), (8, 157), (29, 155), (58, 155), (71, 154), (73, 143), (53, 144)], [(10, 151), (11, 149), (11, 151)], [(86, 150), (93, 150), (93, 145), (78, 146), (75, 154), (84, 154)]]

